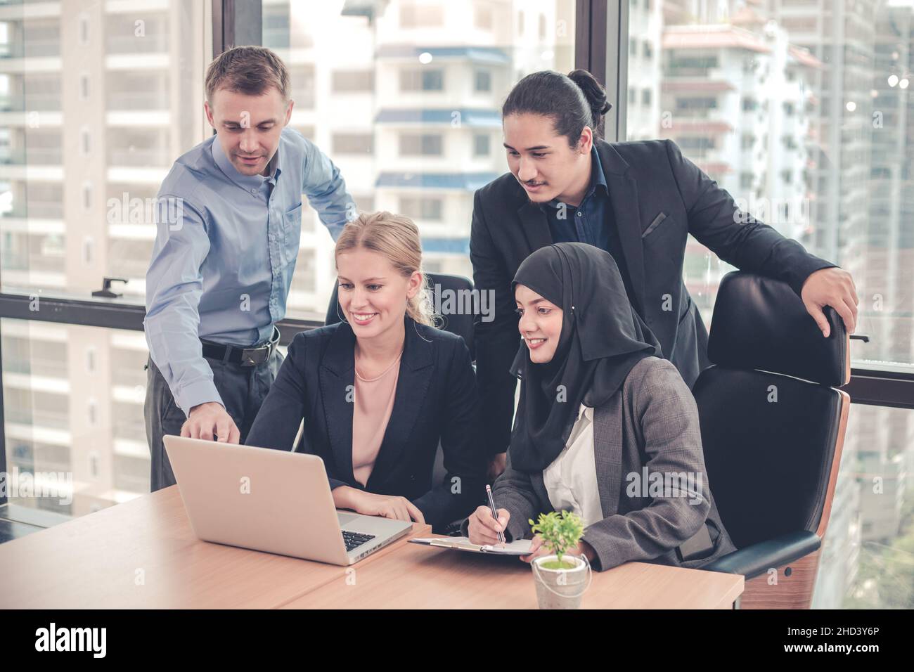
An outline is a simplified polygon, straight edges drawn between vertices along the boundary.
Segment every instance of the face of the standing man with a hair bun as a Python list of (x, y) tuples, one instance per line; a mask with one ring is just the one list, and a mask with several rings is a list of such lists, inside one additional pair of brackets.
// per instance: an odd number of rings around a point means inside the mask
[(558, 198), (579, 205), (590, 185), (593, 134), (584, 127), (578, 145), (557, 135), (552, 119), (541, 114), (509, 114), (503, 120), (508, 168), (534, 203)]

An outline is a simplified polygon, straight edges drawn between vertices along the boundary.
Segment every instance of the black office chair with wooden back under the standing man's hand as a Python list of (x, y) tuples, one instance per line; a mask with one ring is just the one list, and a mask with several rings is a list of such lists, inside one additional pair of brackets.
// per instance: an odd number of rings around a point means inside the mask
[[(742, 574), (739, 608), (808, 609), (828, 527), (850, 397), (849, 338), (822, 336), (786, 284), (747, 272), (720, 283), (693, 388), (707, 482), (739, 549), (704, 570)], [(776, 572), (776, 573), (775, 573)]]

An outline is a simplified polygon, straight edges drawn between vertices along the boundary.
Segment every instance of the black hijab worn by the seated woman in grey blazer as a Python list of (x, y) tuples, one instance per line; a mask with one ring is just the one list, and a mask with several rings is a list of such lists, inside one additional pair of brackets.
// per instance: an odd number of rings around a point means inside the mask
[[(609, 252), (579, 242), (541, 248), (524, 260), (511, 283), (562, 309), (556, 354), (530, 361), (521, 343), (511, 371), (521, 379), (511, 436), (511, 465), (545, 469), (561, 453), (580, 404), (597, 408), (611, 398), (644, 357), (663, 357), (660, 343), (635, 313), (619, 268)], [(559, 386), (564, 400), (559, 401)]]

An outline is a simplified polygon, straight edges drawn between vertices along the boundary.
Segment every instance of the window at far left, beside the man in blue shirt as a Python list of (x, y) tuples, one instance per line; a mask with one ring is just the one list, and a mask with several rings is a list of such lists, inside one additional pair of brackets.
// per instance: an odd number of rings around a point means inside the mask
[[(208, 3), (0, 3), (0, 282), (40, 315), (102, 277), (143, 303), (149, 207), (207, 137)], [(0, 320), (6, 468), (72, 476), (80, 515), (149, 491), (142, 332)], [(16, 490), (16, 493), (27, 490)]]

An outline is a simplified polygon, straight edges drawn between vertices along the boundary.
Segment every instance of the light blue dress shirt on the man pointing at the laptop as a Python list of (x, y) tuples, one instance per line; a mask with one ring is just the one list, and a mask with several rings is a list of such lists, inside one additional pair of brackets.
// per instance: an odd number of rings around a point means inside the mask
[(240, 174), (216, 136), (175, 161), (159, 190), (146, 272), (150, 355), (175, 402), (222, 399), (200, 338), (250, 347), (285, 315), (302, 232), (302, 195), (334, 240), (356, 215), (339, 168), (284, 128), (270, 176)]

